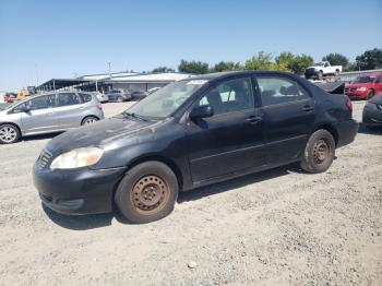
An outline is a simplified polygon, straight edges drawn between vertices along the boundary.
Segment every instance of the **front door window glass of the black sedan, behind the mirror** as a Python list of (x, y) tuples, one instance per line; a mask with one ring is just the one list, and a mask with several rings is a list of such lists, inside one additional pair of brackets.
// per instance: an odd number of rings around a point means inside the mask
[(199, 102), (199, 106), (203, 105), (210, 105), (215, 115), (253, 108), (251, 80), (236, 79), (218, 84)]

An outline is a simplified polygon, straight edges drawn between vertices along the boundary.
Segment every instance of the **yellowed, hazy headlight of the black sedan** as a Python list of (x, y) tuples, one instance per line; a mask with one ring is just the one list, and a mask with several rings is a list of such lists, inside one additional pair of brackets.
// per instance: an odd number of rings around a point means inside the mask
[(61, 154), (50, 164), (50, 169), (75, 169), (96, 164), (104, 151), (97, 147), (75, 148)]

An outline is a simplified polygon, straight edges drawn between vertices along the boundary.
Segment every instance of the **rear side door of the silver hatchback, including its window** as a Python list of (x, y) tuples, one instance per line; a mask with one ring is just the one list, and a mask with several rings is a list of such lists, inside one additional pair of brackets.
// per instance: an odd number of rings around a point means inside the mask
[(59, 93), (57, 97), (57, 115), (60, 128), (68, 129), (81, 126), (83, 109), (77, 93)]

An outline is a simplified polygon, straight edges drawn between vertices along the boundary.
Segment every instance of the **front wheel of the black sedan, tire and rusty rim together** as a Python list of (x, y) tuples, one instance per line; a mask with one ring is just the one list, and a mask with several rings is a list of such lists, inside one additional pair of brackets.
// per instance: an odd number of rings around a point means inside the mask
[(146, 224), (172, 212), (178, 189), (174, 171), (160, 162), (151, 160), (126, 174), (117, 188), (115, 201), (129, 222)]

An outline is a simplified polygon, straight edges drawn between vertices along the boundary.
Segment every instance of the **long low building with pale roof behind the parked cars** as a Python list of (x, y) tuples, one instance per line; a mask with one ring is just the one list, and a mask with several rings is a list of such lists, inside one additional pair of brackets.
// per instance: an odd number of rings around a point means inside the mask
[(88, 74), (76, 79), (51, 79), (39, 86), (38, 91), (81, 90), (88, 92), (107, 92), (109, 90), (127, 90), (129, 92), (148, 91), (163, 87), (171, 82), (188, 79), (193, 74), (164, 72), (164, 73), (105, 73)]

